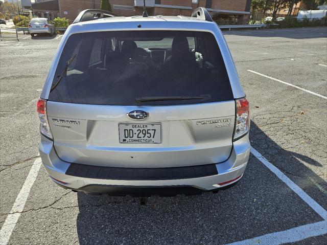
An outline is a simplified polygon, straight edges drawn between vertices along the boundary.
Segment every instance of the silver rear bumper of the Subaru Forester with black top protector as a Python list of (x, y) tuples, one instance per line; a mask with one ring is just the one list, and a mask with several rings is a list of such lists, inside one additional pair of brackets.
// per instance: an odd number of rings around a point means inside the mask
[[(178, 176), (177, 179), (172, 177), (166, 179), (165, 177), (156, 179), (149, 177), (147, 179), (136, 178), (133, 180), (133, 178), (129, 177), (122, 180), (122, 178), (116, 177), (101, 179), (98, 175), (97, 177), (91, 177), (92, 175), (87, 174), (75, 174), (74, 176), (72, 171), (67, 171), (72, 164), (60, 160), (54, 149), (53, 142), (43, 136), (41, 136), (39, 152), (46, 171), (52, 177), (52, 180), (63, 188), (110, 195), (149, 196), (158, 194), (170, 196), (181, 193), (193, 195), (204, 191), (214, 191), (236, 183), (241, 179), (245, 171), (250, 154), (250, 143), (248, 135), (233, 142), (228, 160), (223, 163), (212, 164), (216, 167), (215, 170), (217, 171), (215, 173), (208, 171), (207, 174), (183, 175), (183, 178)], [(99, 172), (103, 169), (94, 170)], [(225, 184), (219, 185), (219, 183)]]

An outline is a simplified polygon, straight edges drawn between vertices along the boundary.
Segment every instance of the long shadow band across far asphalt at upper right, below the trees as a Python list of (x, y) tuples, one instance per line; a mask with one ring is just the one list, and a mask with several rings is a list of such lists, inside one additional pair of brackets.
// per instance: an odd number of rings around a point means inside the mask
[(325, 26), (305, 28), (281, 28), (281, 29), (222, 29), (224, 35), (252, 36), (252, 37), (284, 37), (291, 39), (306, 39), (327, 37)]

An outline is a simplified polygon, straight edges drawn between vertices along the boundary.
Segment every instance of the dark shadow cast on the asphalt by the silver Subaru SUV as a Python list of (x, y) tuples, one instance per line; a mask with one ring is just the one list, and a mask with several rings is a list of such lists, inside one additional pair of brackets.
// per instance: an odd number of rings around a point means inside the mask
[[(307, 181), (306, 176), (326, 184), (301, 161), (314, 166), (321, 166), (320, 163), (279, 147), (253, 122), (250, 139), (252, 147), (260, 152), (264, 150), (261, 153), (273, 164), (274, 155), (265, 152), (269, 149), (277, 152), (278, 161), (284, 161), (281, 166), (275, 164), (278, 168), (284, 165), (296, 168), (304, 176), (300, 180), (302, 184)], [(305, 184), (305, 191), (314, 199), (318, 198), (318, 189), (310, 182)], [(138, 199), (129, 196), (78, 192), (77, 197), (77, 232), (79, 243), (83, 245), (225, 244), (321, 220), (252, 154), (241, 181), (217, 194), (152, 196), (147, 206), (139, 206)]]

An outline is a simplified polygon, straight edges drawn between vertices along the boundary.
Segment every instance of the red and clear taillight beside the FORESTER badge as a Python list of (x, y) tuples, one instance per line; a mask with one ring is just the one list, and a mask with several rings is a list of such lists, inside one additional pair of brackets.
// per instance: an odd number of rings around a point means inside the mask
[(233, 140), (245, 136), (250, 128), (249, 125), (250, 104), (246, 98), (236, 100), (236, 124)]

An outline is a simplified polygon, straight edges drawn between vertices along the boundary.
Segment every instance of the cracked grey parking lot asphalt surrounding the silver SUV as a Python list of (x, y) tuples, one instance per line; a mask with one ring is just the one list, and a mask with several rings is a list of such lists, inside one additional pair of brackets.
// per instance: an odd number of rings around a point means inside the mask
[[(61, 189), (41, 166), (4, 244), (327, 244), (327, 28), (224, 34), (251, 106), (254, 150), (236, 186), (140, 207)], [(36, 100), (60, 40), (0, 42), (2, 227), (39, 161)]]

